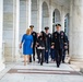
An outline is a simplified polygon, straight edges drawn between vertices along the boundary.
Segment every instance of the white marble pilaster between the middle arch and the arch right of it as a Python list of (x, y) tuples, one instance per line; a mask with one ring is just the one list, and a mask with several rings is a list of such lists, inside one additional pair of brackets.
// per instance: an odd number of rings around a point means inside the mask
[(52, 0), (49, 0), (49, 31), (52, 33)]

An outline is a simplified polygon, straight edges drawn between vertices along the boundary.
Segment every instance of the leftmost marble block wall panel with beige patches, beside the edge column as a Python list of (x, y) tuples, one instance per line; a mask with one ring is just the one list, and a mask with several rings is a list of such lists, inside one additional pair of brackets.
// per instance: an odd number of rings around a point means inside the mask
[(3, 40), (5, 61), (12, 59), (13, 0), (3, 0)]

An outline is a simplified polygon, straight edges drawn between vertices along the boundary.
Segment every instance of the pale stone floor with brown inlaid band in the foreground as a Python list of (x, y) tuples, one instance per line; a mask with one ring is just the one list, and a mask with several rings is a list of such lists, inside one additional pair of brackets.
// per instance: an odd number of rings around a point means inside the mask
[(57, 68), (52, 62), (23, 66), (21, 61), (7, 63), (5, 69), (0, 72), (0, 82), (83, 82), (83, 75), (68, 63), (61, 63)]

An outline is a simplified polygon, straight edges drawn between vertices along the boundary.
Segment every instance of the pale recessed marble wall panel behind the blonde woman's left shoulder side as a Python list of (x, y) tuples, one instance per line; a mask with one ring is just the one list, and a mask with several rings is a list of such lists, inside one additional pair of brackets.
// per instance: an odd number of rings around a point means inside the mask
[(26, 28), (26, 0), (20, 0), (20, 42)]

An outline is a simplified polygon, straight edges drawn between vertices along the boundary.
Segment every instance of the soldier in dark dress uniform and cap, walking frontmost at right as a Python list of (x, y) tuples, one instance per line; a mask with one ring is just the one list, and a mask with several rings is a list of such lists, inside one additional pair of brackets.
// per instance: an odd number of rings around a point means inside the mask
[(64, 32), (61, 31), (61, 25), (56, 24), (56, 28), (57, 31), (52, 33), (52, 43), (55, 43), (56, 62), (57, 62), (57, 67), (59, 68), (64, 49), (64, 43), (67, 43), (67, 39)]

